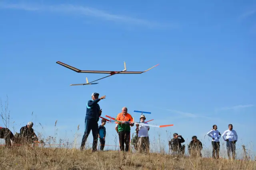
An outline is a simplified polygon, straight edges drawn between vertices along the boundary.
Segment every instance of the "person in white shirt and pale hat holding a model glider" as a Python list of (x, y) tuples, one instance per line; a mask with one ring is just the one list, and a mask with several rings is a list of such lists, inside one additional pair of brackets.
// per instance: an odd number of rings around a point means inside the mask
[[(145, 122), (146, 117), (144, 115), (140, 116), (140, 122), (144, 124), (148, 124)], [(138, 126), (138, 150), (139, 152), (145, 152), (149, 153), (149, 137), (148, 137), (148, 131), (149, 126), (146, 126), (144, 124), (138, 123), (136, 126)]]

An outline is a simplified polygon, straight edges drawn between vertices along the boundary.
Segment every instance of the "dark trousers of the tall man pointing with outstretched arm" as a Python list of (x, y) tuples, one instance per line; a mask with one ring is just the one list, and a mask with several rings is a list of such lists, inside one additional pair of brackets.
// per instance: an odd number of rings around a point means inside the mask
[(98, 143), (98, 122), (85, 119), (85, 130), (84, 135), (82, 138), (82, 143), (80, 149), (84, 148), (84, 145), (86, 143), (86, 140), (92, 130), (92, 136), (93, 136), (93, 143), (92, 143), (92, 150), (97, 150), (97, 143)]

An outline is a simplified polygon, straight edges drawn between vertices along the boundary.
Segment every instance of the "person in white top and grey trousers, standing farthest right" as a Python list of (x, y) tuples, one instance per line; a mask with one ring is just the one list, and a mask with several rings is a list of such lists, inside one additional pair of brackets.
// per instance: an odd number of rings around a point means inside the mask
[(232, 152), (232, 158), (235, 159), (236, 157), (236, 141), (238, 139), (238, 136), (236, 134), (236, 131), (233, 130), (233, 125), (228, 125), (228, 130), (224, 131), (222, 134), (222, 138), (224, 141), (226, 141), (227, 146), (227, 152), (228, 152), (228, 158), (230, 159), (230, 152)]

